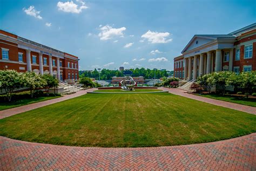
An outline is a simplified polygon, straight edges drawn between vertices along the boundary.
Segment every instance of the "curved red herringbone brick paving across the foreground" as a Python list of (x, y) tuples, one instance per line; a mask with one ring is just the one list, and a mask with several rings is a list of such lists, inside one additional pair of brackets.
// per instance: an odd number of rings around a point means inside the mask
[(0, 170), (255, 170), (256, 133), (196, 145), (99, 148), (0, 136)]

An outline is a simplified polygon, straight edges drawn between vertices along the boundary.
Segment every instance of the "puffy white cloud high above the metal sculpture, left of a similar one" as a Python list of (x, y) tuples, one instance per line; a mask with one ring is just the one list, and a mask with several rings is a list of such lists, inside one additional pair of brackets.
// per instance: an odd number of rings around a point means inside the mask
[(114, 37), (124, 37), (125, 27), (122, 28), (112, 28), (110, 25), (105, 25), (100, 28), (99, 37), (100, 40), (108, 40)]

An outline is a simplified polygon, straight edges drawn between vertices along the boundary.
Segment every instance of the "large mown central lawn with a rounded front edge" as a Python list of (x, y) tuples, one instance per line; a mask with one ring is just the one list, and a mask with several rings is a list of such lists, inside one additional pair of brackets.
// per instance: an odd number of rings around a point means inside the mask
[(256, 132), (256, 115), (170, 93), (85, 94), (0, 120), (0, 135), (70, 146), (169, 146)]

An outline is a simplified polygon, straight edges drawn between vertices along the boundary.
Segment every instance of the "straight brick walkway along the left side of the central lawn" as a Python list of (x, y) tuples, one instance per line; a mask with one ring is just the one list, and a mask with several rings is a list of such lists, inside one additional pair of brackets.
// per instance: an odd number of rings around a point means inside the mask
[(36, 103), (33, 103), (33, 104), (29, 104), (29, 105), (14, 107), (14, 108), (10, 108), (8, 110), (3, 110), (3, 111), (0, 111), (0, 119), (10, 117), (10, 116), (15, 115), (15, 114), (23, 113), (23, 112), (26, 112), (26, 111), (34, 110), (35, 108), (38, 108), (38, 107), (43, 107), (43, 106), (47, 106), (47, 105), (50, 105), (50, 104), (55, 104), (56, 102), (72, 99), (72, 98), (78, 97), (80, 95), (86, 94), (87, 91), (94, 91), (94, 90), (96, 90), (96, 88), (91, 88), (91, 89), (88, 89), (88, 90), (80, 90), (76, 93), (69, 94), (69, 95), (64, 95), (63, 97), (60, 97), (60, 98), (57, 98), (57, 99), (51, 99), (51, 100), (36, 102)]

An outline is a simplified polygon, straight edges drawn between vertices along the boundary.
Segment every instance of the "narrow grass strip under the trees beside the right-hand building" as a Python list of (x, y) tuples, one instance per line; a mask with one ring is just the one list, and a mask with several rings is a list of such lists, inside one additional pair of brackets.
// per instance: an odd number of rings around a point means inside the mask
[(211, 99), (234, 102), (235, 104), (241, 104), (241, 105), (256, 107), (256, 98), (246, 99), (245, 97), (235, 97), (235, 96), (231, 96), (229, 94), (226, 94), (225, 96), (218, 95), (218, 94), (202, 94), (201, 96), (206, 97), (206, 98), (211, 98)]

